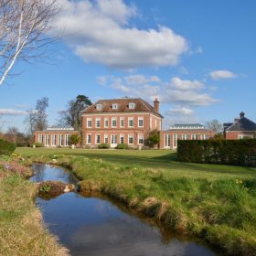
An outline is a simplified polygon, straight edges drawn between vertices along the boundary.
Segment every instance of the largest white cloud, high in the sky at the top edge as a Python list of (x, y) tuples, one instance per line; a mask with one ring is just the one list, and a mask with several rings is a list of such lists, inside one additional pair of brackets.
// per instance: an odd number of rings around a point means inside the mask
[(63, 11), (55, 32), (64, 30), (64, 39), (86, 62), (116, 69), (174, 66), (188, 49), (186, 38), (169, 27), (131, 27), (137, 10), (123, 0), (59, 1)]

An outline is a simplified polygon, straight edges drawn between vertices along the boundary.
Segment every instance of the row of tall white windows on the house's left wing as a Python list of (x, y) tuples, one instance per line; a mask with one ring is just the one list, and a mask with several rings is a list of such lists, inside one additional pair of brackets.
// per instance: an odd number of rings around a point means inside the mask
[[(51, 140), (50, 140), (51, 138)], [(50, 144), (51, 142), (51, 144)], [(46, 146), (56, 146), (56, 145), (70, 145), (70, 134), (38, 134), (38, 143)]]

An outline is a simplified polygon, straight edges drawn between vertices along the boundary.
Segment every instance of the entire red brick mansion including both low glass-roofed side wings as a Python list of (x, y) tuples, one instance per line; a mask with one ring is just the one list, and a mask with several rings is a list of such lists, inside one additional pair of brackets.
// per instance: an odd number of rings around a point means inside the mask
[[(214, 133), (199, 123), (176, 124), (162, 131), (163, 116), (159, 113), (159, 101), (152, 106), (141, 98), (100, 100), (81, 112), (82, 146), (98, 144), (128, 144), (140, 147), (149, 133), (160, 132), (159, 148), (176, 148), (177, 140), (206, 140)], [(69, 146), (69, 137), (76, 133), (72, 128), (51, 127), (35, 133), (35, 142), (44, 146)]]

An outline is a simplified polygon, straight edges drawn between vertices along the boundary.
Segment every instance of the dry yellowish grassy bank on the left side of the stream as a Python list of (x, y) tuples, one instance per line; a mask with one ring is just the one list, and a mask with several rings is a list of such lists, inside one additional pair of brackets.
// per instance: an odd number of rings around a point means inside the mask
[(36, 187), (21, 174), (25, 167), (6, 160), (0, 163), (0, 255), (68, 255), (43, 227)]

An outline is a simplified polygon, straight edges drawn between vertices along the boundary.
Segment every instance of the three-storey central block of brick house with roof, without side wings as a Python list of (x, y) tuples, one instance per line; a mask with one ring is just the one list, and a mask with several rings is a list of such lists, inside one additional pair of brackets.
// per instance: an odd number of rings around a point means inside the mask
[(142, 99), (101, 100), (81, 114), (82, 144), (97, 147), (98, 144), (144, 145), (152, 130), (161, 131), (162, 116), (159, 101), (154, 107)]

